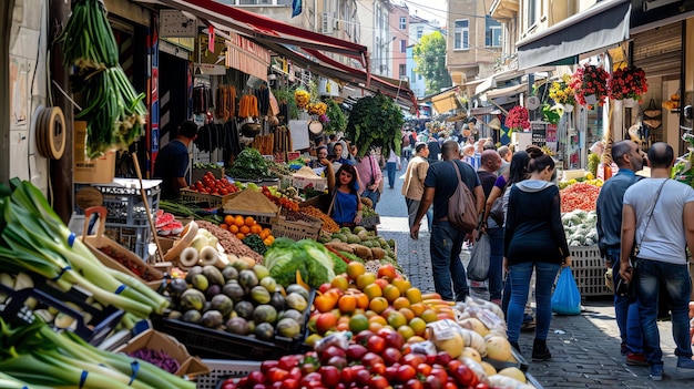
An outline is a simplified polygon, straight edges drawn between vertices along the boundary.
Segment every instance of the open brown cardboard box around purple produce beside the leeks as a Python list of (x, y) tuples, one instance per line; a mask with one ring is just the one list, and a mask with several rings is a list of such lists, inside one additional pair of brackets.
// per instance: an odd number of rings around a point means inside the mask
[(146, 330), (139, 336), (132, 338), (125, 345), (116, 348), (114, 352), (135, 352), (140, 349), (149, 348), (157, 351), (166, 352), (171, 358), (178, 361), (181, 367), (175, 372), (176, 376), (195, 377), (198, 375), (210, 373), (210, 369), (200, 358), (192, 357), (185, 346), (180, 344), (173, 337), (156, 331), (154, 329)]

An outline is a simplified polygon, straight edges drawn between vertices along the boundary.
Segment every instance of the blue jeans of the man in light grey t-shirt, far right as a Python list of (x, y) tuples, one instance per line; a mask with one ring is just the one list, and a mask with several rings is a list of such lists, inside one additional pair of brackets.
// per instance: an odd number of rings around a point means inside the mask
[(686, 265), (636, 258), (636, 300), (643, 334), (643, 351), (649, 365), (663, 364), (663, 350), (657, 330), (657, 303), (661, 285), (670, 297), (672, 336), (677, 357), (692, 358), (690, 339), (690, 295), (692, 280)]

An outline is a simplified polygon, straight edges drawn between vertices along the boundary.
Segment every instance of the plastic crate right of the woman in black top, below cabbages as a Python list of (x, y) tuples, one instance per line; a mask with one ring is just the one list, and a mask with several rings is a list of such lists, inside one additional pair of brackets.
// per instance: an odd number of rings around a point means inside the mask
[(611, 296), (613, 293), (605, 285), (604, 259), (600, 257), (598, 246), (572, 246), (571, 270), (581, 297)]

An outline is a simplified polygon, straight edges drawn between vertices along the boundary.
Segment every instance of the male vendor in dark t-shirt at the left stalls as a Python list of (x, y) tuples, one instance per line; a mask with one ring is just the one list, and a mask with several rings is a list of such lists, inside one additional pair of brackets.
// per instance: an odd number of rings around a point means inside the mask
[(185, 173), (188, 168), (188, 147), (197, 137), (197, 124), (185, 121), (176, 130), (176, 139), (169, 142), (154, 162), (154, 178), (162, 180), (161, 198), (178, 198), (178, 191), (187, 187)]

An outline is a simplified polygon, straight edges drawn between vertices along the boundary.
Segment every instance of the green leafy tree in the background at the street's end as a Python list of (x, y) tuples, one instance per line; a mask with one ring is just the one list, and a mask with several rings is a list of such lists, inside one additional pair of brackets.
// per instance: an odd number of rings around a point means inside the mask
[(427, 94), (452, 84), (446, 69), (446, 38), (439, 31), (421, 37), (412, 53), (417, 63), (415, 71), (423, 75)]

